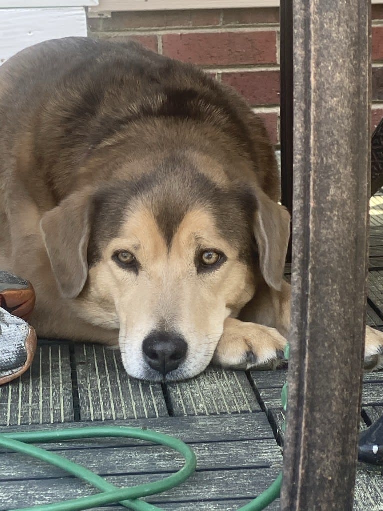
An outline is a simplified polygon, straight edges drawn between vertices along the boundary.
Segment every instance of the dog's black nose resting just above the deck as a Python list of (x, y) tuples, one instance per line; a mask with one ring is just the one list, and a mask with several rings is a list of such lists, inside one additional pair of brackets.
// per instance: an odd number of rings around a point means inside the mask
[(187, 344), (179, 334), (154, 331), (143, 341), (142, 351), (150, 367), (166, 375), (185, 360)]

